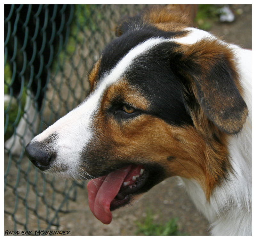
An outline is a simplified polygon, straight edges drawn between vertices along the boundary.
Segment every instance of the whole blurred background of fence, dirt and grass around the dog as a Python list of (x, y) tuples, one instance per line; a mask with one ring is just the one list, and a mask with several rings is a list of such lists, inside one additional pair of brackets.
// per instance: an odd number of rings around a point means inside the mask
[[(146, 5), (4, 5), (4, 231), (71, 235), (209, 235), (175, 178), (155, 186), (104, 225), (91, 213), (86, 180), (44, 175), (24, 154), (33, 136), (84, 100), (87, 75), (119, 19)], [(252, 48), (252, 5), (199, 5), (195, 23)]]

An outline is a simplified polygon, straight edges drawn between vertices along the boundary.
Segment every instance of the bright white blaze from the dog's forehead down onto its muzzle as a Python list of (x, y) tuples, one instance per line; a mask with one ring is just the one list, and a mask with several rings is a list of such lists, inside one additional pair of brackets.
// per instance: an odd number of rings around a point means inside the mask
[[(132, 48), (109, 72), (107, 72), (99, 81), (99, 85), (85, 101), (70, 111), (67, 115), (60, 118), (56, 123), (48, 127), (41, 134), (37, 135), (33, 141), (42, 141), (54, 132), (60, 135), (60, 139), (72, 139), (74, 136), (77, 140), (79, 135), (82, 135), (78, 145), (85, 146), (89, 141), (92, 133), (90, 131), (90, 123), (92, 116), (100, 107), (100, 101), (105, 89), (114, 84), (124, 74), (125, 70), (132, 64), (132, 60), (143, 54), (152, 47), (162, 42), (170, 41), (164, 38), (150, 38), (139, 45)], [(69, 137), (68, 137), (69, 136)], [(78, 137), (79, 138), (79, 137)], [(75, 140), (75, 142), (76, 142)], [(61, 141), (61, 140), (60, 140)], [(63, 143), (64, 144), (64, 143)], [(76, 145), (76, 147), (78, 147)]]

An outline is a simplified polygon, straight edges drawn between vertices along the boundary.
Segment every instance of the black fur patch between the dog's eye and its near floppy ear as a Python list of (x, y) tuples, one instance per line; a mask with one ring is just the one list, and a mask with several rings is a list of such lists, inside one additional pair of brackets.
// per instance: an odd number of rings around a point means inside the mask
[(183, 86), (173, 73), (175, 63), (170, 63), (175, 43), (161, 43), (134, 59), (125, 79), (140, 89), (151, 103), (148, 114), (162, 118), (169, 124), (192, 125), (187, 113)]

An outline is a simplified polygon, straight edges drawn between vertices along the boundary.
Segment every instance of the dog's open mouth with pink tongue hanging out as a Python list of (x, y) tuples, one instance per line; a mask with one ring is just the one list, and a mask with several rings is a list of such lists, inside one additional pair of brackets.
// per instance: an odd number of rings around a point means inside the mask
[(87, 184), (89, 206), (102, 223), (112, 221), (111, 211), (131, 202), (133, 196), (148, 191), (152, 185), (150, 170), (142, 165), (129, 165), (92, 179)]

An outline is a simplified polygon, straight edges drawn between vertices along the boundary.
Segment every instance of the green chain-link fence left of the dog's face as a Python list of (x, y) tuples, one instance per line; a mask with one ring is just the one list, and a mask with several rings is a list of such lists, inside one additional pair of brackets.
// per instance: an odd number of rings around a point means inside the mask
[(69, 203), (76, 201), (84, 182), (42, 174), (24, 155), (24, 147), (83, 101), (87, 74), (115, 37), (116, 23), (144, 7), (4, 5), (6, 235), (58, 229), (61, 216), (77, 210)]

